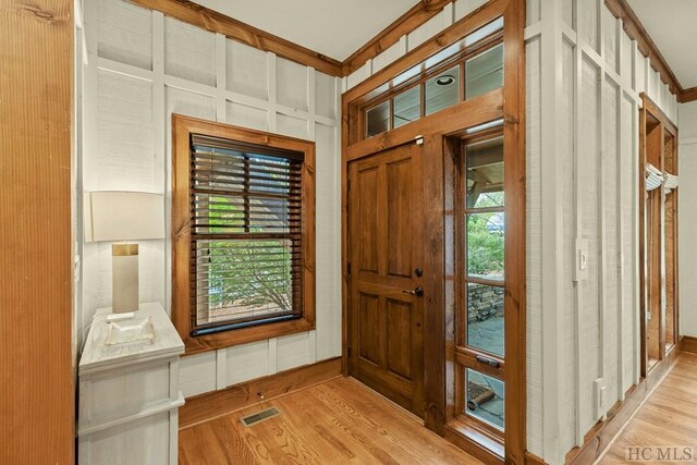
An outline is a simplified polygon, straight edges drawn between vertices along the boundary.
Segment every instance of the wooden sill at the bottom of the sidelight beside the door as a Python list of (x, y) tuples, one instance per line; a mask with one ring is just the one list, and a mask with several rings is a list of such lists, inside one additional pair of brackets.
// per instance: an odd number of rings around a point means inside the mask
[(460, 418), (445, 425), (445, 439), (486, 464), (504, 463), (505, 449), (500, 438)]

